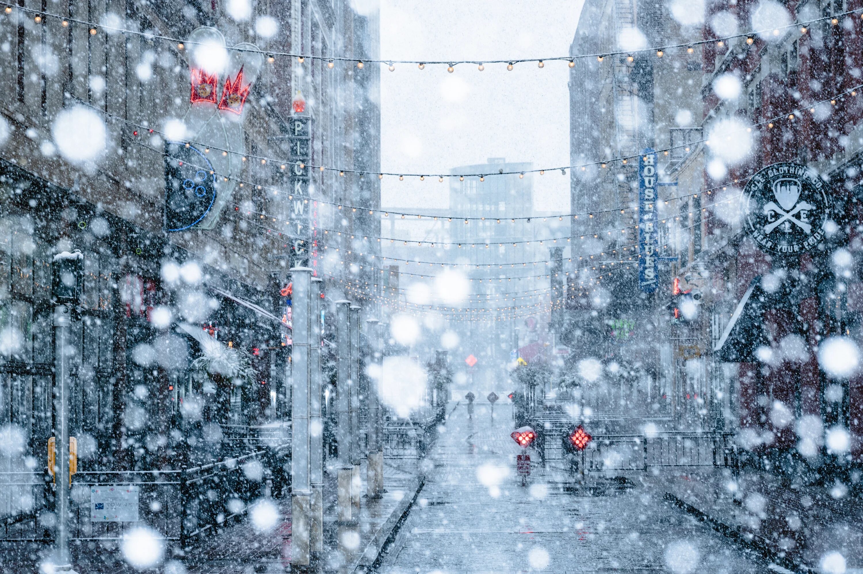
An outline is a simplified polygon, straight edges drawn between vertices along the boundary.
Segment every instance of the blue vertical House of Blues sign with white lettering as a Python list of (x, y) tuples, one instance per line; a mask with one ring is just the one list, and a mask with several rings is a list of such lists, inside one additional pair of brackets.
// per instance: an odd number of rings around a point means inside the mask
[(656, 219), (656, 152), (646, 148), (639, 158), (639, 288), (656, 291), (658, 283)]

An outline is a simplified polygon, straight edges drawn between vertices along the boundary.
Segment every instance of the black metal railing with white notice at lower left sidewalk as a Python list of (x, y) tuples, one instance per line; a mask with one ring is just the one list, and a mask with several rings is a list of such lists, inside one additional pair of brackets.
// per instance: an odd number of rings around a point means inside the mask
[[(249, 502), (266, 495), (268, 489), (287, 487), (290, 479), (282, 459), (289, 454), (287, 443), (180, 470), (79, 471), (72, 476), (70, 539), (119, 539), (137, 521), (143, 521), (162, 539), (185, 547), (199, 534), (243, 514)], [(54, 483), (47, 472), (29, 473), (28, 481), (22, 481), (19, 488), (32, 489), (34, 500), (53, 507)], [(136, 520), (117, 520), (117, 515), (107, 515), (108, 508), (101, 508), (106, 514), (99, 517), (101, 513), (94, 508), (97, 503), (92, 501), (105, 489), (117, 489), (119, 499), (127, 504), (126, 512), (131, 513), (122, 518)], [(125, 495), (119, 492), (123, 489)], [(16, 525), (22, 527), (12, 529), (7, 520), (3, 542), (54, 541), (53, 528), (41, 524), (36, 511), (18, 519)]]

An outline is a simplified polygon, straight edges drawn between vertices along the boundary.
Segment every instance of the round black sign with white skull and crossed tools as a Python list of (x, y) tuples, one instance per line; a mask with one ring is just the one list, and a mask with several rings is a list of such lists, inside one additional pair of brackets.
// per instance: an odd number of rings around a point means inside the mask
[(827, 184), (797, 163), (767, 166), (743, 190), (746, 231), (773, 253), (803, 253), (821, 243), (832, 208)]

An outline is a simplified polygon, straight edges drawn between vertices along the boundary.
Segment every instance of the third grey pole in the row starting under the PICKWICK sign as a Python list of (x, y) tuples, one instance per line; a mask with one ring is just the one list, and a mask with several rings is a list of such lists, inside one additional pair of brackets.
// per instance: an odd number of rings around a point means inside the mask
[[(337, 413), (338, 413), (338, 520), (352, 520), (350, 484), (353, 466), (350, 464), (350, 321), (349, 300), (336, 301), (337, 340)], [(356, 516), (359, 518), (359, 514)]]

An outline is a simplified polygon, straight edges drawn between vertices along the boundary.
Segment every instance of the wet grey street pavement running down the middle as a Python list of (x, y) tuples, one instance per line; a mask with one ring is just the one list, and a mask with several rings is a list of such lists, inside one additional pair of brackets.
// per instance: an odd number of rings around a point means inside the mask
[(782, 571), (638, 486), (638, 477), (574, 489), (562, 470), (534, 464), (521, 486), (511, 410), (498, 405), (494, 422), (489, 414), (476, 406), (471, 420), (461, 405), (450, 415), (377, 572)]

